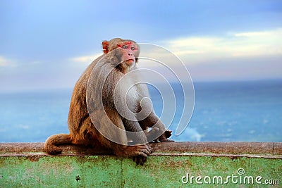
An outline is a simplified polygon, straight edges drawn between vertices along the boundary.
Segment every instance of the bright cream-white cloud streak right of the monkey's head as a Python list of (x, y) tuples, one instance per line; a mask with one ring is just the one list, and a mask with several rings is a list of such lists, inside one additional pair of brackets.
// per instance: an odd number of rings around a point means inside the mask
[(180, 37), (161, 42), (177, 56), (197, 63), (219, 57), (282, 55), (282, 28), (228, 32), (221, 37)]

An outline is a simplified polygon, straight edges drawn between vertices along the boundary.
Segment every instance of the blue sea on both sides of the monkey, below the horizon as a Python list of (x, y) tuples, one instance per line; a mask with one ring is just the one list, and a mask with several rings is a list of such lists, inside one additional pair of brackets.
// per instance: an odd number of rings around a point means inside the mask
[[(171, 83), (176, 104), (185, 104), (181, 85)], [(177, 142), (282, 142), (282, 80), (194, 82), (195, 106), (188, 126), (176, 135), (178, 120), (168, 128)], [(73, 89), (0, 92), (0, 142), (44, 142), (68, 133)], [(154, 111), (164, 102), (149, 87)], [(179, 97), (178, 97), (179, 96)], [(176, 106), (180, 117), (183, 105)], [(177, 119), (177, 118), (176, 118)], [(178, 118), (179, 119), (179, 118)]]

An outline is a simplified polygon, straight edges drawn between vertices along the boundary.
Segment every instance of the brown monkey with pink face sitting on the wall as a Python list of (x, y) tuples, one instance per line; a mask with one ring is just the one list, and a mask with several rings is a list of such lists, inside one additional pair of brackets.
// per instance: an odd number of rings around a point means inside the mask
[(60, 144), (102, 146), (143, 165), (152, 153), (149, 142), (173, 142), (168, 139), (171, 130), (166, 130), (142, 100), (149, 99), (149, 92), (145, 84), (135, 84), (139, 74), (131, 74), (138, 70), (140, 46), (133, 40), (115, 38), (103, 41), (102, 48), (104, 54), (87, 67), (73, 89), (70, 134), (51, 135), (44, 151), (59, 154)]

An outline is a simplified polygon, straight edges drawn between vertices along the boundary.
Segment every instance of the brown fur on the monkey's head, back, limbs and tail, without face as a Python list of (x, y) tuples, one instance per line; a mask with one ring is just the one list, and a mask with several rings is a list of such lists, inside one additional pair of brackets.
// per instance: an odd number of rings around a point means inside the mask
[[(140, 163), (142, 165), (145, 163), (149, 153), (152, 152), (149, 144), (147, 144), (147, 140), (151, 140), (151, 137), (155, 137), (157, 134), (160, 136), (155, 139), (155, 142), (171, 141), (168, 139), (168, 137), (171, 136), (171, 131), (166, 130), (164, 124), (161, 123), (161, 120), (154, 114), (154, 111), (152, 111), (144, 120), (137, 121), (122, 118), (116, 110), (113, 98), (114, 88), (123, 75), (128, 73), (129, 70), (136, 69), (135, 65), (133, 68), (130, 68), (127, 61), (125, 61), (126, 59), (123, 59), (123, 55), (125, 54), (124, 50), (114, 51), (114, 49), (118, 48), (117, 45), (123, 42), (132, 42), (135, 44), (135, 42), (131, 40), (123, 40), (119, 38), (111, 39), (109, 42), (104, 41), (102, 43), (104, 54), (88, 66), (73, 89), (70, 110), (68, 113), (68, 129), (70, 130), (70, 134), (55, 134), (49, 137), (44, 144), (44, 150), (47, 153), (61, 153), (61, 149), (58, 147), (60, 144), (99, 145), (104, 146), (106, 149), (111, 149), (117, 156), (133, 156), (133, 160), (137, 164)], [(137, 61), (139, 49), (133, 51), (133, 54), (131, 55)], [(94, 67), (101, 59), (104, 63), (102, 63), (102, 65), (105, 65), (106, 68), (114, 68), (106, 78), (104, 78), (106, 75), (104, 73), (109, 70), (100, 70), (99, 67)], [(118, 64), (120, 62), (123, 63)], [(95, 76), (91, 77), (93, 74), (92, 71), (96, 72), (94, 72)], [(87, 109), (87, 87), (91, 87), (93, 91), (98, 91), (98, 88), (102, 88), (102, 80), (99, 80), (99, 76), (105, 79), (104, 87), (101, 90), (102, 96), (99, 92), (92, 92), (89, 97), (90, 99), (88, 99), (88, 104), (91, 105), (90, 107), (88, 106)], [(92, 84), (87, 86), (89, 81)], [(147, 95), (147, 87), (142, 86), (136, 87), (135, 89), (140, 96)], [(142, 91), (145, 93), (142, 94)], [(99, 102), (101, 101), (101, 98), (103, 99), (103, 104), (100, 104)], [(128, 102), (129, 107), (131, 108), (130, 110), (133, 110), (135, 113), (140, 111), (140, 104), (137, 99), (130, 99)], [(102, 106), (104, 108), (102, 108)], [(88, 112), (89, 110), (90, 113)], [(106, 113), (104, 113), (104, 111)], [(125, 132), (112, 130), (111, 127), (109, 127), (111, 123), (114, 123), (114, 125), (121, 128), (121, 130), (139, 133), (134, 134), (136, 137), (128, 138)], [(118, 139), (118, 142), (123, 144), (116, 144), (110, 139), (106, 139), (103, 136), (104, 134), (102, 135), (97, 130), (97, 127), (101, 128), (100, 132), (110, 134), (112, 138)], [(142, 131), (147, 130), (148, 127), (153, 127), (151, 132), (149, 132), (152, 134)], [(159, 132), (161, 132), (161, 134), (159, 134)], [(129, 139), (132, 139), (133, 142), (141, 142), (142, 144), (128, 146)]]

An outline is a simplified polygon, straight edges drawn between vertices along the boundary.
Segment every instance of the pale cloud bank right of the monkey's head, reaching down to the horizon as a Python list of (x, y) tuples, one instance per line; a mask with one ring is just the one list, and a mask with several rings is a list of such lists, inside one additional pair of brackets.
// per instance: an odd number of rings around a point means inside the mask
[[(195, 80), (257, 80), (281, 77), (282, 28), (226, 32), (226, 35), (220, 37), (180, 37), (157, 44), (166, 49), (144, 46), (140, 56), (153, 57), (164, 64), (144, 60), (139, 64), (140, 67), (163, 73), (166, 77), (170, 72), (166, 67), (175, 73), (183, 73), (180, 61), (190, 70)], [(172, 53), (168, 53), (169, 51)]]

